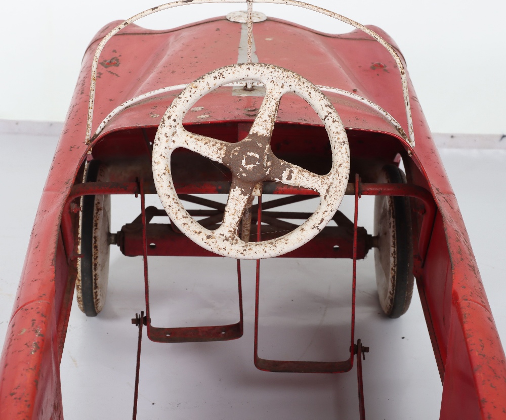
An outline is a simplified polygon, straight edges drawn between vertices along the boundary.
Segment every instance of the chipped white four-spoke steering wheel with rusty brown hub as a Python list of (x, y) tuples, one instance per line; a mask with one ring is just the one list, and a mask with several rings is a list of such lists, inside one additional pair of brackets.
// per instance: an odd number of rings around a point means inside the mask
[[(194, 134), (183, 128), (183, 117), (205, 94), (227, 83), (257, 81), (266, 94), (249, 134), (238, 143)], [(332, 168), (317, 175), (277, 158), (270, 146), (281, 97), (294, 92), (316, 111), (327, 130)], [(226, 165), (232, 185), (216, 230), (201, 226), (185, 210), (176, 194), (171, 175), (171, 154), (178, 147), (192, 150)], [(174, 100), (161, 119), (153, 145), (153, 178), (158, 196), (176, 226), (192, 241), (216, 254), (239, 259), (270, 258), (285, 254), (315, 237), (341, 204), (350, 173), (348, 137), (338, 113), (322, 92), (297, 73), (268, 64), (246, 63), (222, 67), (190, 83)], [(248, 199), (262, 181), (283, 182), (314, 190), (320, 204), (313, 215), (288, 234), (262, 242), (244, 242), (237, 229)]]

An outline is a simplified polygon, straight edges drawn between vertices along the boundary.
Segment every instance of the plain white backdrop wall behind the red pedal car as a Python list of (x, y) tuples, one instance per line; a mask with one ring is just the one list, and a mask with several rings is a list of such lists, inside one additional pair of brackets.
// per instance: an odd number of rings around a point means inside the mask
[[(158, 5), (147, 0), (2, 3), (0, 119), (43, 121), (65, 118), (82, 55), (93, 35), (112, 20)], [(310, 3), (382, 27), (396, 40), (433, 132), (506, 132), (505, 2)], [(351, 30), (304, 9), (254, 8), (325, 32)], [(162, 29), (243, 9), (244, 4), (189, 5), (160, 12), (139, 24)]]

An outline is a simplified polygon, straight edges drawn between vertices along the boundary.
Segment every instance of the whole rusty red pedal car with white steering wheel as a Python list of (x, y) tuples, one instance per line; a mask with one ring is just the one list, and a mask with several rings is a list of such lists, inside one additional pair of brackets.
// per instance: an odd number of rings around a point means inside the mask
[[(145, 308), (132, 319), (138, 356), (143, 327), (161, 343), (239, 339), (240, 261), (257, 260), (252, 361), (266, 371), (332, 374), (356, 363), (360, 418), (369, 349), (355, 337), (356, 263), (373, 255), (385, 316), (406, 312), (416, 283), (443, 383), (440, 418), (506, 418), (504, 352), (395, 42), (379, 28), (296, 0), (254, 3), (299, 6), (355, 30), (309, 30), (253, 12), (250, 1), (242, 2), (247, 12), (176, 29), (134, 24), (200, 3), (218, 1), (182, 0), (112, 22), (85, 53), (9, 321), (2, 419), (63, 418), (59, 364), (74, 289), (82, 312), (101, 312), (112, 246), (143, 256)], [(160, 206), (146, 207), (154, 194)], [(117, 232), (110, 227), (112, 195), (140, 201), (139, 216)], [(354, 200), (350, 218), (339, 209), (345, 195)], [(363, 196), (375, 196), (372, 232), (358, 225)], [(314, 212), (298, 210), (309, 199), (319, 202)], [(287, 205), (291, 211), (278, 209)], [(165, 222), (155, 223), (160, 216)], [(148, 256), (237, 259), (238, 322), (159, 326), (150, 312)], [(352, 261), (344, 360), (259, 355), (260, 264), (274, 257)]]

